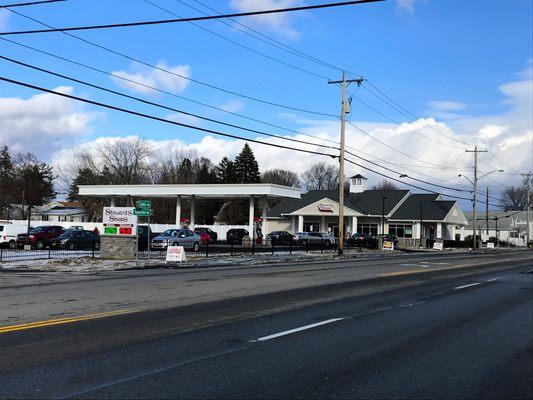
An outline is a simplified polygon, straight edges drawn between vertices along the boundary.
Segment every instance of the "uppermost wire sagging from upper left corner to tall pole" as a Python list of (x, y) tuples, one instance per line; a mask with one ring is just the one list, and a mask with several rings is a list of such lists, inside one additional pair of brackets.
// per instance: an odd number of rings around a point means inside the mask
[[(383, 1), (383, 0), (379, 0), (379, 1)], [(47, 26), (47, 27), (50, 27), (52, 29), (56, 29), (56, 28), (53, 28), (51, 25), (48, 25), (45, 22), (42, 22), (42, 21), (40, 21), (40, 20), (38, 20), (36, 18), (30, 17), (29, 15), (23, 14), (23, 13), (21, 13), (19, 11), (11, 10), (9, 8), (7, 8), (7, 10), (9, 10), (12, 13), (17, 14), (17, 15), (23, 17), (23, 18), (26, 18), (28, 20), (34, 21), (34, 22), (36, 22), (36, 23), (38, 23), (40, 25)], [(84, 39), (84, 38), (82, 38), (80, 36), (76, 36), (76, 35), (74, 35), (72, 33), (64, 32), (61, 29), (56, 29), (56, 30), (58, 32), (63, 33), (64, 35), (67, 35), (67, 36), (72, 37), (74, 39), (80, 40), (80, 41), (82, 41), (82, 42), (84, 42), (86, 44), (89, 44), (89, 45), (94, 46), (96, 48), (99, 48), (101, 50), (107, 51), (107, 52), (109, 52), (111, 54), (114, 54), (114, 55), (117, 55), (119, 57), (125, 58), (125, 59), (127, 59), (129, 61), (137, 62), (139, 64), (142, 64), (142, 65), (146, 66), (146, 67), (149, 67), (149, 68), (152, 68), (152, 69), (167, 73), (169, 75), (176, 76), (176, 77), (181, 78), (181, 79), (188, 80), (190, 82), (193, 82), (193, 83), (196, 83), (198, 85), (202, 85), (202, 86), (208, 87), (208, 88), (213, 89), (213, 90), (217, 90), (217, 91), (220, 91), (220, 92), (223, 92), (223, 93), (226, 93), (226, 94), (231, 94), (233, 96), (238, 96), (238, 97), (241, 97), (241, 98), (244, 98), (244, 99), (247, 99), (247, 100), (251, 100), (251, 101), (254, 101), (254, 102), (257, 102), (257, 103), (266, 104), (266, 105), (269, 105), (269, 106), (272, 106), (272, 107), (277, 107), (277, 108), (282, 108), (282, 109), (286, 109), (286, 110), (302, 112), (302, 113), (306, 113), (306, 114), (313, 114), (313, 115), (320, 115), (320, 116), (325, 116), (325, 117), (337, 118), (337, 116), (334, 115), (334, 114), (328, 114), (328, 113), (321, 112), (321, 111), (308, 110), (308, 109), (303, 109), (303, 108), (299, 108), (299, 107), (292, 107), (292, 106), (284, 105), (284, 104), (281, 104), (281, 103), (276, 103), (276, 102), (269, 101), (269, 100), (263, 100), (263, 99), (260, 99), (258, 97), (249, 96), (249, 95), (246, 95), (244, 93), (239, 93), (239, 92), (236, 92), (236, 91), (233, 91), (233, 90), (230, 90), (230, 89), (225, 89), (225, 88), (222, 88), (220, 86), (217, 86), (217, 85), (214, 85), (214, 84), (211, 84), (211, 83), (207, 83), (207, 82), (203, 82), (203, 81), (200, 81), (198, 79), (194, 79), (194, 78), (182, 75), (182, 74), (178, 74), (177, 72), (170, 71), (170, 70), (168, 70), (166, 68), (150, 64), (149, 62), (146, 62), (146, 61), (140, 60), (140, 59), (138, 59), (136, 57), (132, 57), (132, 56), (129, 56), (129, 55), (125, 54), (125, 53), (121, 53), (119, 51), (113, 50), (113, 49), (111, 49), (109, 47), (106, 47), (104, 45), (92, 42), (92, 41), (87, 40), (87, 39)], [(1, 36), (1, 34), (0, 34), (0, 36)]]

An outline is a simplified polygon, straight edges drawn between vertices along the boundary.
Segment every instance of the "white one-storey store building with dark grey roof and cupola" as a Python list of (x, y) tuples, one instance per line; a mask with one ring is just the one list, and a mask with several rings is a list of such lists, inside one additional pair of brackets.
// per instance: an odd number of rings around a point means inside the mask
[[(313, 190), (300, 199), (282, 199), (268, 212), (269, 230), (338, 234), (339, 192)], [(402, 246), (429, 240), (458, 240), (468, 224), (456, 201), (438, 194), (409, 190), (369, 190), (367, 179), (355, 175), (344, 196), (345, 232), (394, 234)]]

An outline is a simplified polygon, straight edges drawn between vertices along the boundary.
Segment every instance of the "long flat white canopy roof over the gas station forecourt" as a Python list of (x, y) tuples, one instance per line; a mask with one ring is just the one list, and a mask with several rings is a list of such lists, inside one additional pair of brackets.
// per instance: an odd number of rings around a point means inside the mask
[(271, 183), (190, 184), (190, 185), (80, 185), (80, 196), (176, 198), (177, 196), (212, 199), (251, 196), (299, 199), (300, 189)]

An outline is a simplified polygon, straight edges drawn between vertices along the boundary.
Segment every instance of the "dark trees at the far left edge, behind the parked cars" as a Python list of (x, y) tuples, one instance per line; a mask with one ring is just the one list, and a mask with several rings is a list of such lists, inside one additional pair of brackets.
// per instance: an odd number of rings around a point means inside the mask
[[(22, 205), (22, 217), (28, 205), (48, 203), (56, 197), (52, 167), (32, 153), (0, 151), (0, 218), (13, 218), (11, 204)], [(19, 217), (19, 215), (16, 215)]]

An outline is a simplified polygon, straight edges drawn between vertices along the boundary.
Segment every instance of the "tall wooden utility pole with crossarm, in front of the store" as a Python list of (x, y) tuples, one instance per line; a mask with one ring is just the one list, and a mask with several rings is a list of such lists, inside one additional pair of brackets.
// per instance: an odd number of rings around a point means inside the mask
[(346, 89), (350, 83), (361, 86), (364, 79), (346, 79), (342, 71), (342, 80), (329, 81), (328, 84), (341, 84), (341, 137), (339, 154), (339, 256), (344, 253), (344, 136), (346, 131), (346, 114), (350, 113), (350, 102), (346, 101)]

